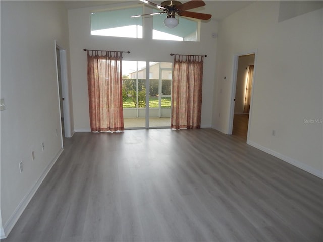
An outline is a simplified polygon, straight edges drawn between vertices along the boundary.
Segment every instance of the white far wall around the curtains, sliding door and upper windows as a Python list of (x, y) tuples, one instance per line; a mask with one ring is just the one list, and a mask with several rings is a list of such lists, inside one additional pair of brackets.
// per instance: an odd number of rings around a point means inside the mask
[[(137, 4), (137, 3), (135, 3)], [(129, 3), (127, 4), (129, 5)], [(138, 5), (138, 4), (137, 4)], [(104, 6), (115, 7), (116, 5)], [(119, 6), (119, 5), (117, 5)], [(217, 32), (217, 23), (210, 20), (201, 23), (200, 42), (177, 42), (152, 40), (152, 30), (144, 33), (144, 39), (118, 38), (90, 35), (90, 12), (95, 8), (69, 10), (69, 36), (71, 46), (71, 74), (73, 90), (75, 131), (90, 130), (86, 49), (130, 51), (124, 54), (125, 60), (172, 62), (171, 53), (206, 54), (203, 73), (202, 127), (211, 127), (213, 84), (215, 79), (214, 62), (216, 39), (212, 33)], [(152, 18), (145, 18), (145, 27), (152, 29)]]

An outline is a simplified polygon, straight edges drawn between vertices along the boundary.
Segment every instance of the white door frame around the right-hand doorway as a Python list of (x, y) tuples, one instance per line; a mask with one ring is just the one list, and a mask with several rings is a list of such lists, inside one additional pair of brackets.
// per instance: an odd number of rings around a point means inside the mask
[(253, 91), (255, 84), (255, 73), (256, 73), (256, 63), (257, 63), (257, 49), (250, 50), (247, 52), (237, 53), (233, 56), (233, 78), (231, 83), (231, 95), (230, 95), (230, 116), (229, 116), (229, 130), (228, 134), (232, 135), (233, 130), (233, 118), (234, 118), (234, 105), (235, 105), (235, 97), (236, 97), (236, 88), (237, 88), (237, 75), (238, 75), (238, 62), (239, 57), (243, 55), (254, 54), (254, 68), (253, 68), (253, 76), (252, 76), (252, 90), (251, 90), (251, 100), (250, 100), (250, 111), (249, 111), (249, 120), (248, 120), (248, 132), (247, 132), (247, 143), (249, 142), (249, 133), (251, 127), (251, 116), (252, 116), (252, 104), (253, 104)]

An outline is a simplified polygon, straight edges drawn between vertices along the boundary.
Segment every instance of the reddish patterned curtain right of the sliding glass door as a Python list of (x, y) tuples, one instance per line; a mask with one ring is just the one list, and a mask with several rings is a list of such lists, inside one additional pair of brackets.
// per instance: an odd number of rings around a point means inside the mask
[(171, 128), (201, 128), (203, 57), (175, 55)]

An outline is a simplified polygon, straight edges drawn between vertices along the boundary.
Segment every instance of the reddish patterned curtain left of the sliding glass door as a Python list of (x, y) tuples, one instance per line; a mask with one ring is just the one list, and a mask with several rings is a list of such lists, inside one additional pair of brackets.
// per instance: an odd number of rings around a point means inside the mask
[(124, 130), (121, 52), (87, 51), (87, 82), (92, 132)]

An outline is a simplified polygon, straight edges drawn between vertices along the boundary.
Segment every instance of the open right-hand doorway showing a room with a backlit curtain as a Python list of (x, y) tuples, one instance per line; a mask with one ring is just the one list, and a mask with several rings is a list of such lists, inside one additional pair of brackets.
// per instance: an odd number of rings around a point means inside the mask
[(248, 141), (250, 127), (250, 110), (253, 91), (254, 63), (256, 53), (239, 54), (235, 56), (234, 80), (231, 104), (231, 132), (245, 141)]

